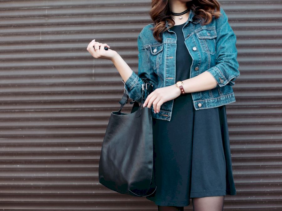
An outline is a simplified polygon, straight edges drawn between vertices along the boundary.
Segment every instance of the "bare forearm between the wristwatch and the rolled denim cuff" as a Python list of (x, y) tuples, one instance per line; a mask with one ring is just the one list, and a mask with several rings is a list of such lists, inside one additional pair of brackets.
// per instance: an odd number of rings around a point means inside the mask
[(215, 88), (217, 81), (211, 73), (205, 71), (193, 78), (183, 80), (183, 88), (185, 93), (200, 92)]

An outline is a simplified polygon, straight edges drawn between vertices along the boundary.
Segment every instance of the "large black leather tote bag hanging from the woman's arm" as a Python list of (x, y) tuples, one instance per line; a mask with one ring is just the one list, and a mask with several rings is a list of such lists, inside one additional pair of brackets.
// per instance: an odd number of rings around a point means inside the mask
[[(147, 90), (148, 86), (146, 84)], [(125, 90), (124, 90), (125, 91)], [(121, 107), (111, 113), (99, 160), (99, 182), (118, 193), (149, 196), (157, 188), (153, 170), (153, 132), (150, 108), (134, 102), (130, 114), (121, 109), (128, 102), (124, 92)], [(131, 104), (133, 102), (130, 102)]]

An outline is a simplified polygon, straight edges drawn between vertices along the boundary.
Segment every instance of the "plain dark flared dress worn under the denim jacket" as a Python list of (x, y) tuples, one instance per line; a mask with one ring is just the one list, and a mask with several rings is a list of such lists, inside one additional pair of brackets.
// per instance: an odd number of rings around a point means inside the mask
[[(192, 58), (177, 35), (176, 81), (190, 78)], [(191, 93), (174, 99), (171, 120), (153, 118), (157, 189), (146, 198), (161, 206), (187, 206), (190, 198), (235, 195), (225, 105), (195, 110)]]

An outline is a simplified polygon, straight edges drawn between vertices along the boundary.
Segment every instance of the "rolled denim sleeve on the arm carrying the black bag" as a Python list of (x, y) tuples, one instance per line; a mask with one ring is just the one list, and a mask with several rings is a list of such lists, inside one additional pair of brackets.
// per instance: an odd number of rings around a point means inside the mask
[[(153, 85), (153, 87), (156, 86), (156, 75), (154, 73), (154, 70), (152, 68), (152, 65), (149, 60), (148, 51), (145, 49), (145, 45), (143, 43), (143, 40), (141, 38), (143, 30), (138, 36), (138, 75), (135, 72), (132, 72), (130, 77), (123, 83), (124, 88), (126, 92), (128, 93), (128, 96), (133, 100), (137, 102), (141, 102), (141, 96), (142, 96), (142, 84), (144, 84), (144, 81), (142, 79), (146, 79)], [(144, 84), (144, 88), (145, 88)], [(145, 89), (144, 92), (144, 100), (147, 98), (148, 92)]]

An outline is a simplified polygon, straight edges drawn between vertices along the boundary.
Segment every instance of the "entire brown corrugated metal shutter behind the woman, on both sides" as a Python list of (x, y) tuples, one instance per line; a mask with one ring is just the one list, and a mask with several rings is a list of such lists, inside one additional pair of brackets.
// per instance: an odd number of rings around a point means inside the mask
[[(98, 181), (123, 83), (112, 63), (86, 51), (96, 38), (137, 73), (150, 2), (0, 1), (1, 210), (156, 210)], [(220, 2), (241, 71), (237, 102), (227, 105), (238, 194), (226, 196), (225, 210), (282, 210), (282, 2)]]

